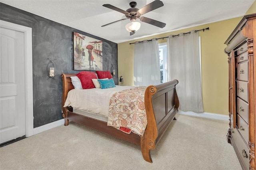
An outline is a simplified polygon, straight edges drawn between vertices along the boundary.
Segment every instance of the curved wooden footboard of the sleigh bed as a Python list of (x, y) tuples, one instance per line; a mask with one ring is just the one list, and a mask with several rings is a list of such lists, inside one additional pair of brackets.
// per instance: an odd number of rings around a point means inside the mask
[(144, 160), (151, 162), (150, 150), (156, 144), (178, 113), (179, 100), (175, 85), (178, 80), (147, 87), (145, 92), (145, 107), (148, 125), (141, 137), (141, 152)]

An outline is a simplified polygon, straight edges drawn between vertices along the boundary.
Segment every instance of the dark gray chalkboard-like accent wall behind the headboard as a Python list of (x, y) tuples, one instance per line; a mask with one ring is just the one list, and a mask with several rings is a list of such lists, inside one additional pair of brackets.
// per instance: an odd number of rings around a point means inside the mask
[[(116, 69), (117, 44), (46, 18), (0, 3), (0, 20), (32, 28), (34, 128), (62, 119), (62, 73), (74, 71), (73, 32), (103, 41), (103, 70)], [(55, 79), (49, 79), (49, 59), (56, 63)]]

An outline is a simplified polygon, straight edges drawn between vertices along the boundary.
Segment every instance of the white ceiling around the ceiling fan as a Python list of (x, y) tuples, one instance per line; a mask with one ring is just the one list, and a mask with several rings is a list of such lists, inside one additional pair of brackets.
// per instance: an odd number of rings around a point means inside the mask
[(162, 0), (164, 6), (143, 16), (166, 23), (164, 28), (139, 19), (140, 30), (132, 36), (125, 29), (129, 19), (101, 27), (126, 18), (124, 14), (106, 8), (103, 4), (127, 10), (132, 1), (137, 2), (136, 8), (140, 9), (154, 0), (0, 0), (4, 4), (115, 43), (244, 16), (255, 0)]

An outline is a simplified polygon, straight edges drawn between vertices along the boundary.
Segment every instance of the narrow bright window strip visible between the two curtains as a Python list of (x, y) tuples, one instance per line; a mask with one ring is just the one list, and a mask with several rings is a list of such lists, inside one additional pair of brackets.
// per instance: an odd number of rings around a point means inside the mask
[(161, 83), (165, 83), (167, 81), (167, 43), (160, 43), (158, 46), (160, 60), (160, 78)]

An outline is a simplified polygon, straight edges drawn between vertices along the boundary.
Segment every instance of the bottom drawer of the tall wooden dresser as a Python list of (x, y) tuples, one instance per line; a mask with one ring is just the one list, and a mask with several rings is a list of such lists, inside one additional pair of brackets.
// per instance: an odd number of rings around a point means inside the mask
[(244, 142), (241, 135), (239, 134), (238, 130), (235, 128), (232, 132), (232, 138), (236, 147), (236, 154), (238, 157), (241, 158), (243, 164), (245, 165), (246, 169), (249, 169), (249, 148), (248, 145)]

